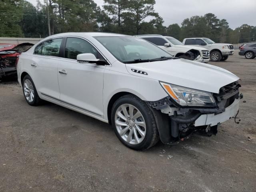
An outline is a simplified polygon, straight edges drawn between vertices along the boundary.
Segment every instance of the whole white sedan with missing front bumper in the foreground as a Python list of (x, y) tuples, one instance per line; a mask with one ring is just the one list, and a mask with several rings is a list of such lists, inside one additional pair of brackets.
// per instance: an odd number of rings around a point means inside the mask
[(20, 55), (17, 71), (28, 104), (46, 100), (112, 124), (135, 150), (216, 134), (242, 98), (231, 72), (121, 34), (49, 36)]

